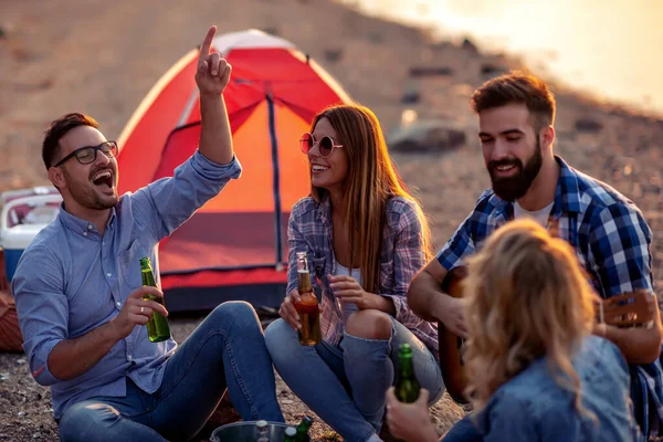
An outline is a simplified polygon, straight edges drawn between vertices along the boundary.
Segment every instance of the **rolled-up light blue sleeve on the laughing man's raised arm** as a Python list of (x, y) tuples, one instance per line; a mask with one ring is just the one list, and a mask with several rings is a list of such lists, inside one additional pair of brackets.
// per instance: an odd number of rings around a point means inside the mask
[(131, 196), (131, 210), (136, 221), (146, 224), (159, 241), (241, 175), (242, 166), (236, 157), (228, 165), (218, 165), (196, 150), (175, 169), (172, 177), (136, 191)]

